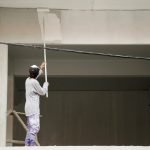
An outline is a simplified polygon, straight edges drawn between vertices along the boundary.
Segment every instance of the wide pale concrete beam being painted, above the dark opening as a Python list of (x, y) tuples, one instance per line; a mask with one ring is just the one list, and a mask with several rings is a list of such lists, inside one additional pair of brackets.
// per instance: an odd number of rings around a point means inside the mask
[[(150, 10), (53, 10), (49, 15), (47, 44), (150, 44)], [(36, 9), (0, 8), (0, 22), (0, 41), (43, 44)]]

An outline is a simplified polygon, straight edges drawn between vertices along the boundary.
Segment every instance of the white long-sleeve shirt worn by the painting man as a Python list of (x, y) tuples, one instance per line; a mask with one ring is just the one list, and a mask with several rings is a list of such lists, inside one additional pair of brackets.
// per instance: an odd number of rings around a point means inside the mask
[(40, 95), (45, 95), (48, 90), (48, 83), (44, 83), (43, 87), (33, 78), (27, 78), (25, 82), (26, 88), (26, 103), (25, 114), (31, 116), (40, 114)]

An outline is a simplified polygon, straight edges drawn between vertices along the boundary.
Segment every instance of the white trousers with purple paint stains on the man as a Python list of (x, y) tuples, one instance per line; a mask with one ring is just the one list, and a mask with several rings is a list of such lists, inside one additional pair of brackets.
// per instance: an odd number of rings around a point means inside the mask
[(27, 116), (28, 132), (25, 138), (25, 146), (37, 146), (36, 136), (40, 130), (40, 118), (39, 115)]

